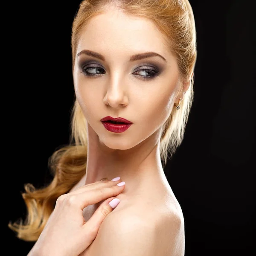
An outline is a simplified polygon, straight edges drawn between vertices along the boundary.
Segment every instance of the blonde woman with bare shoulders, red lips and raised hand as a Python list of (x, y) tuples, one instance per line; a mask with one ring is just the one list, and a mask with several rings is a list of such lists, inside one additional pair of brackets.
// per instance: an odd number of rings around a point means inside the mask
[(26, 223), (9, 227), (37, 241), (29, 256), (184, 255), (183, 214), (163, 167), (193, 99), (189, 2), (84, 0), (71, 41), (70, 145), (52, 154), (49, 186), (25, 186)]

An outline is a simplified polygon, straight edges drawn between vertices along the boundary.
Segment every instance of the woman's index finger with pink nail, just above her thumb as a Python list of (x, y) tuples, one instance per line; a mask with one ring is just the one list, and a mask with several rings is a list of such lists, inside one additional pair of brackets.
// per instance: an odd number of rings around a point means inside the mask
[[(113, 181), (109, 181), (109, 182), (113, 182)], [(103, 183), (101, 185), (106, 185), (106, 183)], [(72, 198), (70, 199), (72, 200), (73, 204), (76, 204), (77, 206), (79, 206), (81, 210), (83, 210), (88, 205), (97, 204), (100, 201), (103, 201), (111, 197), (115, 197), (116, 195), (120, 194), (125, 189), (125, 182), (123, 181), (120, 184), (122, 186), (117, 186), (117, 185), (118, 184), (111, 187), (107, 186), (107, 187), (91, 189), (86, 192), (77, 194), (75, 196), (71, 195)]]

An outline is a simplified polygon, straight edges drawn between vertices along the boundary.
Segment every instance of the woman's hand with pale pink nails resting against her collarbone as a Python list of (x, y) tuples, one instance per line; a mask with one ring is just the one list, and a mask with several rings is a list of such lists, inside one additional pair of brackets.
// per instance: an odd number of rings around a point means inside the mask
[[(89, 247), (102, 221), (113, 210), (109, 202), (125, 188), (125, 185), (116, 186), (120, 181), (96, 181), (58, 197), (49, 223), (34, 245), (32, 256), (78, 256)], [(85, 222), (83, 209), (102, 200), (105, 201)]]

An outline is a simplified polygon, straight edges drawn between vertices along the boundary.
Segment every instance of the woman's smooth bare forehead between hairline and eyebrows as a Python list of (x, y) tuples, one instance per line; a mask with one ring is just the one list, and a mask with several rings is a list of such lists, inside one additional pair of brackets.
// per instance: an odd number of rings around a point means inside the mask
[[(109, 9), (93, 17), (82, 28), (77, 52), (83, 49), (127, 57), (131, 52), (154, 51), (161, 55), (171, 55), (165, 40), (153, 22), (142, 17), (126, 15), (118, 9)], [(108, 53), (110, 55), (108, 55)]]

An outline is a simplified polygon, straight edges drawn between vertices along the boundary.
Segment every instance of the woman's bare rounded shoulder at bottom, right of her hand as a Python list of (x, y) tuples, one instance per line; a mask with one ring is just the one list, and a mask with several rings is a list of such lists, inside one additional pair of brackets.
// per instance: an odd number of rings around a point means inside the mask
[(174, 204), (167, 206), (160, 201), (140, 201), (116, 207), (84, 255), (183, 256), (183, 216)]

